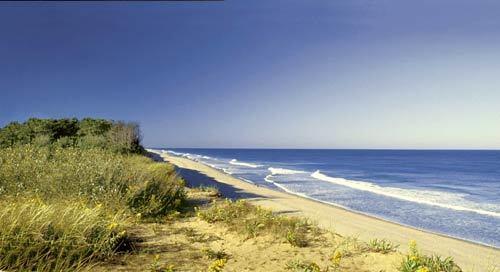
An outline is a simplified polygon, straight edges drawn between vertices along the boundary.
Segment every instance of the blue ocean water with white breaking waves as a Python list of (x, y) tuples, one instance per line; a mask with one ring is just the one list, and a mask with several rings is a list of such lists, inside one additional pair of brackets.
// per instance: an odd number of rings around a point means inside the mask
[(500, 151), (160, 150), (259, 186), (500, 248)]

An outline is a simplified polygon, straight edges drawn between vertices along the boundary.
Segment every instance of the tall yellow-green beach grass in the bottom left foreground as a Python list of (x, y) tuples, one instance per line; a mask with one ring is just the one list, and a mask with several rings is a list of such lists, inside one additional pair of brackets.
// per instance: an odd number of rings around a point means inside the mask
[(0, 268), (67, 271), (130, 250), (123, 213), (84, 203), (0, 202)]

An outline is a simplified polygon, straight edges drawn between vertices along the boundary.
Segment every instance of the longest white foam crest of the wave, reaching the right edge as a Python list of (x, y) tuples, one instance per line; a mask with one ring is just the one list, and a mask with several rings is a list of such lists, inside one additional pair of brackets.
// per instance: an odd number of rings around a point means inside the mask
[(394, 187), (381, 187), (379, 185), (370, 182), (329, 177), (325, 174), (322, 174), (319, 170), (312, 173), (311, 177), (318, 180), (350, 187), (356, 190), (371, 192), (378, 195), (388, 196), (410, 202), (438, 206), (458, 211), (468, 211), (482, 215), (500, 217), (499, 212), (484, 210), (484, 208), (482, 209), (478, 207), (479, 205), (477, 203), (464, 199), (463, 194), (454, 194), (454, 193), (429, 191), (429, 190), (402, 189)]

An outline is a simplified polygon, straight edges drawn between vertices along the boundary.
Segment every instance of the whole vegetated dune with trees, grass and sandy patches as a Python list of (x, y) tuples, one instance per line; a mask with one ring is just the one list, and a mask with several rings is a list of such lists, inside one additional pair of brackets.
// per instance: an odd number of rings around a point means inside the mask
[(0, 129), (0, 270), (461, 271), (188, 188), (140, 140), (136, 124), (90, 118)]

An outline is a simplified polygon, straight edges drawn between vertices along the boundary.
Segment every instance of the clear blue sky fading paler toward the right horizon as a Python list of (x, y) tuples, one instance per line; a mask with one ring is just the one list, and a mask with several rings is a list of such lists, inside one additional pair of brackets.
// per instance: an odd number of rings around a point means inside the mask
[[(252, 5), (250, 5), (250, 3)], [(0, 3), (0, 125), (169, 147), (500, 148), (500, 1)]]

